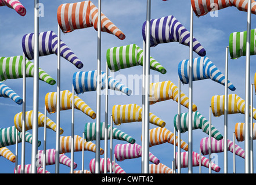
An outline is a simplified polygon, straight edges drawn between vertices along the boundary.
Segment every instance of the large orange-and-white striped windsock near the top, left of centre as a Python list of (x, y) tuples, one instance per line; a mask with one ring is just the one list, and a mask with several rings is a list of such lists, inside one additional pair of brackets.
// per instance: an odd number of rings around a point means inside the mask
[[(57, 21), (64, 33), (94, 27), (98, 31), (98, 8), (91, 1), (64, 3), (57, 9)], [(101, 31), (125, 39), (125, 35), (101, 13)]]

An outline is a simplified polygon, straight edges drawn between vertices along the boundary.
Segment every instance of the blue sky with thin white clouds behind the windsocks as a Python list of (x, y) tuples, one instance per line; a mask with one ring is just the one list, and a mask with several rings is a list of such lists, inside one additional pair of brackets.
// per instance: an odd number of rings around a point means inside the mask
[[(39, 17), (39, 32), (53, 31), (57, 34), (57, 8), (62, 3), (72, 3), (80, 1), (39, 1), (44, 4), (44, 17)], [(98, 6), (98, 1), (92, 1)], [(1, 7), (0, 12), (0, 56), (12, 57), (23, 54), (21, 47), (21, 39), (23, 35), (34, 32), (34, 2), (22, 1), (27, 9), (27, 14), (24, 17), (19, 16), (15, 10), (7, 7)], [(172, 15), (179, 20), (181, 24), (190, 30), (190, 2), (185, 0), (179, 1), (152, 1), (151, 18), (160, 18)], [(121, 1), (102, 1), (102, 12), (124, 32), (126, 38), (119, 40), (116, 36), (102, 32), (102, 71), (106, 71), (106, 51), (110, 47), (125, 46), (135, 43), (143, 48), (142, 39), (142, 24), (146, 20), (146, 1), (136, 0), (121, 0)], [(255, 15), (251, 16), (251, 29), (255, 28)], [(217, 17), (211, 17), (210, 14), (197, 18), (194, 16), (194, 37), (199, 40), (201, 45), (206, 50), (206, 56), (217, 66), (217, 68), (225, 73), (225, 48), (229, 45), (229, 35), (236, 31), (246, 31), (247, 13), (240, 12), (235, 7), (226, 8), (218, 11)], [(68, 34), (61, 34), (63, 42), (70, 47), (71, 50), (80, 58), (84, 67), (82, 69), (75, 68), (70, 62), (61, 59), (61, 90), (72, 90), (73, 73), (77, 71), (92, 71), (97, 69), (97, 35), (98, 33), (93, 28), (75, 30)], [(179, 45), (179, 43), (165, 43), (152, 47), (150, 56), (155, 58), (161, 65), (167, 69), (167, 73), (162, 75), (155, 71), (150, 71), (160, 82), (171, 80), (178, 86), (178, 64), (180, 61), (189, 59), (189, 47)], [(193, 58), (199, 57), (193, 53)], [(254, 83), (255, 71), (255, 56), (251, 56), (251, 76), (250, 82)], [(57, 56), (45, 56), (39, 58), (39, 67), (44, 69), (50, 76), (57, 80)], [(229, 77), (228, 79), (236, 87), (236, 91), (228, 90), (229, 94), (237, 94), (245, 99), (245, 71), (246, 57), (240, 57), (237, 60), (229, 60)], [(111, 73), (117, 80), (121, 80), (121, 76), (126, 76), (122, 80), (124, 84), (131, 84), (131, 79), (128, 75), (141, 75), (142, 66), (136, 66), (130, 69), (122, 69), (121, 71)], [(119, 79), (118, 79), (119, 77)], [(129, 81), (130, 80), (130, 81)], [(154, 78), (153, 78), (154, 80)], [(22, 97), (22, 79), (6, 80), (4, 82), (12, 88), (17, 94)], [(128, 86), (129, 87), (129, 86)], [(181, 90), (188, 93), (188, 84), (181, 86)], [(139, 91), (140, 94), (127, 95), (109, 95), (109, 115), (114, 105), (124, 105), (136, 103), (142, 105), (141, 83), (140, 86), (129, 87), (133, 91)], [(139, 89), (139, 90), (138, 90)], [(44, 82), (39, 82), (39, 112), (44, 113), (44, 98), (48, 92), (56, 92), (57, 86), (50, 86)], [(110, 90), (111, 91), (111, 90)], [(211, 97), (214, 95), (224, 95), (225, 88), (221, 84), (215, 83), (210, 79), (193, 82), (193, 103), (197, 105), (198, 111), (206, 118), (209, 118), (209, 106), (211, 105)], [(113, 93), (112, 93), (113, 94)], [(95, 112), (96, 112), (96, 91), (86, 92), (79, 95)], [(104, 121), (104, 95), (101, 103), (101, 121)], [(255, 99), (255, 98), (254, 98)], [(254, 100), (255, 102), (255, 100)], [(33, 78), (27, 78), (27, 102), (26, 110), (33, 110)], [(158, 102), (150, 105), (150, 112), (160, 117), (166, 122), (165, 127), (171, 132), (174, 132), (174, 116), (177, 113), (178, 104), (172, 100)], [(11, 127), (14, 125), (13, 119), (15, 114), (22, 111), (21, 105), (16, 105), (9, 98), (1, 98), (1, 128)], [(181, 107), (181, 113), (188, 112), (188, 109)], [(56, 113), (48, 114), (48, 117), (56, 121)], [(96, 122), (80, 111), (75, 111), (75, 135), (82, 136), (84, 124), (88, 122)], [(244, 122), (244, 114), (229, 114), (228, 116), (228, 139), (233, 140), (233, 132), (235, 124)], [(110, 117), (109, 117), (110, 123)], [(223, 116), (214, 117), (212, 115), (212, 125), (217, 128), (223, 135)], [(71, 110), (60, 112), (60, 127), (64, 129), (63, 136), (71, 135)], [(114, 126), (121, 131), (131, 135), (136, 139), (136, 143), (141, 145), (141, 123), (127, 123), (120, 126)], [(156, 126), (150, 125), (150, 128)], [(28, 131), (32, 133), (32, 130)], [(200, 140), (207, 135), (196, 129), (193, 131), (193, 151), (199, 153)], [(55, 149), (56, 134), (51, 129), (47, 130), (46, 148)], [(44, 128), (38, 128), (38, 139), (42, 145), (38, 150), (42, 150), (44, 140)], [(188, 132), (181, 134), (181, 139), (188, 143)], [(113, 147), (118, 143), (126, 143), (120, 140), (113, 140)], [(239, 142), (237, 145), (244, 149), (244, 142)], [(101, 142), (101, 147), (104, 149), (104, 142)], [(15, 145), (8, 146), (8, 149), (15, 154)], [(161, 163), (172, 168), (172, 160), (174, 156), (174, 146), (169, 143), (150, 147), (152, 152)], [(19, 154), (21, 154), (21, 143), (19, 144)], [(70, 153), (66, 154), (70, 157)], [(75, 152), (74, 161), (78, 167), (75, 170), (81, 169), (81, 152)], [(18, 163), (21, 162), (21, 156), (18, 156)], [(101, 156), (103, 157), (103, 156)], [(208, 158), (208, 156), (205, 156)], [(95, 153), (85, 151), (85, 169), (89, 170), (89, 162), (95, 158)], [(141, 172), (141, 158), (125, 160), (117, 162), (118, 165), (127, 173)], [(0, 173), (13, 173), (15, 163), (0, 157)], [(31, 164), (31, 145), (26, 143), (26, 164)], [(219, 173), (223, 173), (223, 153), (218, 153), (218, 165), (221, 167)], [(3, 167), (4, 166), (4, 167)], [(46, 169), (55, 173), (55, 165), (46, 166)], [(255, 168), (254, 168), (255, 169)], [(69, 173), (70, 168), (60, 164), (60, 173)], [(182, 168), (182, 173), (188, 173), (188, 168)], [(233, 172), (233, 153), (228, 151), (228, 173)], [(244, 173), (244, 159), (236, 157), (236, 172)], [(193, 168), (193, 173), (199, 173), (199, 167)], [(208, 173), (208, 169), (202, 166), (202, 173)], [(212, 172), (215, 173), (215, 172)]]

